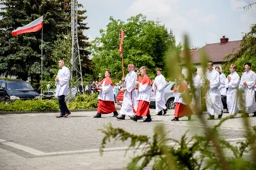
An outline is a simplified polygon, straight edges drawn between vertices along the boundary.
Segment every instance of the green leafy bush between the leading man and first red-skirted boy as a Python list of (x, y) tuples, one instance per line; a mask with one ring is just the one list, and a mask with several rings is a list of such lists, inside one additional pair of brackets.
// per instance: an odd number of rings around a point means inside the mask
[(78, 109), (94, 109), (98, 106), (98, 94), (83, 94), (79, 95), (68, 104), (68, 109), (78, 110)]

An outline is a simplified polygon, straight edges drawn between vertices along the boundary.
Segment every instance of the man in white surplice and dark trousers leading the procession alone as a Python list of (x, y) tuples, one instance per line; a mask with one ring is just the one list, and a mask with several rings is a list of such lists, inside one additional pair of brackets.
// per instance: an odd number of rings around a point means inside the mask
[(55, 78), (56, 93), (55, 96), (58, 97), (60, 104), (60, 115), (57, 118), (68, 117), (70, 111), (68, 110), (67, 104), (65, 103), (65, 95), (69, 87), (70, 71), (65, 66), (63, 59), (59, 61), (60, 70)]

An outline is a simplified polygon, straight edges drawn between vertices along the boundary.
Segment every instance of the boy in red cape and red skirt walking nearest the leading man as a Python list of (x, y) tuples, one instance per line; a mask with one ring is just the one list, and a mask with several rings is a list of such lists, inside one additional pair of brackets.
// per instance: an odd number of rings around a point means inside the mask
[(113, 92), (113, 83), (110, 78), (111, 71), (106, 69), (105, 71), (105, 78), (100, 81), (99, 87), (99, 103), (97, 109), (97, 115), (94, 118), (100, 118), (101, 114), (109, 114), (114, 113), (113, 117), (117, 117), (118, 113), (115, 108), (115, 99), (114, 99), (114, 92)]

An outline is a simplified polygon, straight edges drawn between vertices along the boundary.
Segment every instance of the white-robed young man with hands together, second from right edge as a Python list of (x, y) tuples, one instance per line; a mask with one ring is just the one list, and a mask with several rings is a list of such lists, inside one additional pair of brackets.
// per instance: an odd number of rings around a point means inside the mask
[(230, 118), (234, 118), (239, 112), (238, 109), (238, 86), (240, 82), (240, 77), (236, 73), (236, 65), (231, 64), (229, 66), (229, 74), (225, 80), (225, 87), (228, 88), (227, 91), (227, 107), (229, 111)]

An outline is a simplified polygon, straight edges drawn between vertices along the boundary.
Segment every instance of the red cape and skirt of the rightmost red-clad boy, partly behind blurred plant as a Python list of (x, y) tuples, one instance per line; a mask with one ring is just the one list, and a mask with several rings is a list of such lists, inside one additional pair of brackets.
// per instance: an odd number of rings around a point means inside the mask
[[(174, 87), (173, 92), (175, 92), (175, 90), (179, 93), (183, 93), (188, 90), (188, 87), (184, 82), (181, 82)], [(176, 103), (174, 117), (188, 117), (190, 115), (193, 115), (193, 111), (189, 104)]]

